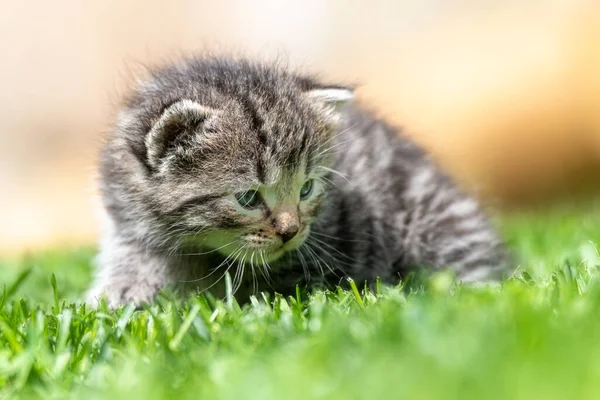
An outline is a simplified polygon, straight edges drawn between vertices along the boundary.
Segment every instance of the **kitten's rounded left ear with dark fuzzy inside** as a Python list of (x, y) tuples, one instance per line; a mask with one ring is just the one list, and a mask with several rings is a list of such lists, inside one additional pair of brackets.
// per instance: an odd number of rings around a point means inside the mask
[(178, 142), (214, 125), (218, 113), (192, 100), (181, 100), (169, 106), (146, 136), (150, 166), (158, 167), (161, 159)]

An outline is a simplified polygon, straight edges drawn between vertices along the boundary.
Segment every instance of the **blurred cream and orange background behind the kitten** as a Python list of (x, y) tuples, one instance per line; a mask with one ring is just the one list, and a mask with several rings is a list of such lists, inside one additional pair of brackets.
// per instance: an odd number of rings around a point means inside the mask
[(93, 243), (94, 166), (141, 71), (279, 57), (359, 98), (498, 209), (600, 191), (600, 1), (0, 0), (0, 252)]

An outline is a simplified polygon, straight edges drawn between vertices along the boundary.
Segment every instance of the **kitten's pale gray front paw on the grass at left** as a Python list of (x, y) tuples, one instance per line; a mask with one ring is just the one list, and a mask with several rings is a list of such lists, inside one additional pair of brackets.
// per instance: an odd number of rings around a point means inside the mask
[(97, 261), (98, 275), (87, 294), (93, 306), (103, 296), (110, 307), (148, 303), (168, 280), (166, 260), (131, 240), (112, 237), (103, 241)]

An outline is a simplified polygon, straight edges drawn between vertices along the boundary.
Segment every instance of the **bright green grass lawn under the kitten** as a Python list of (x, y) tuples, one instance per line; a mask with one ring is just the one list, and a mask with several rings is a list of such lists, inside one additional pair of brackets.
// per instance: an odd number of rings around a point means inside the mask
[(521, 265), (501, 287), (440, 274), (241, 307), (92, 311), (72, 303), (92, 249), (0, 261), (0, 398), (600, 398), (600, 208), (501, 225)]

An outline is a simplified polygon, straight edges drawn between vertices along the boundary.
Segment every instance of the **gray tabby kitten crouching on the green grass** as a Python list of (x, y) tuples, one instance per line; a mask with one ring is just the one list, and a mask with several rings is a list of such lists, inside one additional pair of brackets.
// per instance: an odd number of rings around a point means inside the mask
[(155, 70), (101, 155), (108, 226), (89, 301), (223, 294), (227, 271), (241, 299), (419, 269), (501, 278), (505, 250), (477, 203), (352, 98), (247, 60)]

